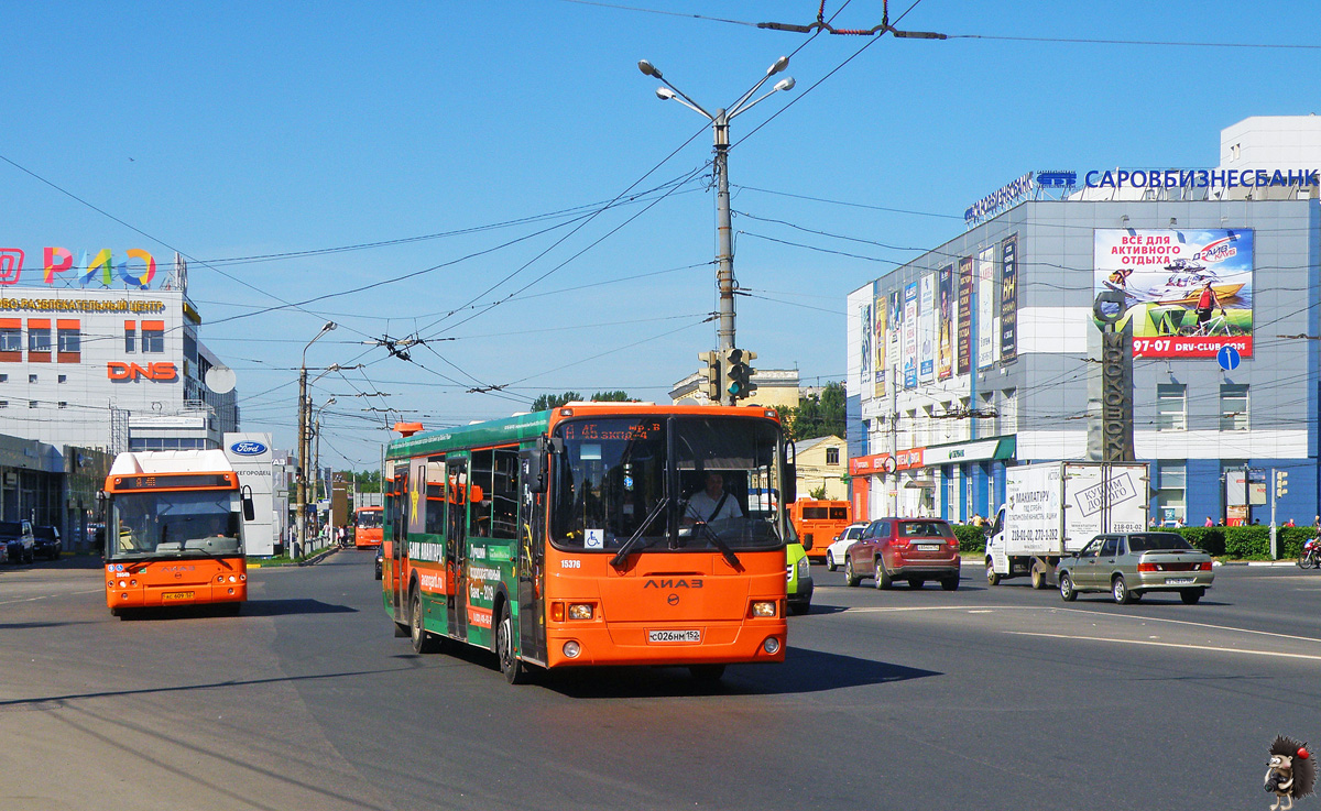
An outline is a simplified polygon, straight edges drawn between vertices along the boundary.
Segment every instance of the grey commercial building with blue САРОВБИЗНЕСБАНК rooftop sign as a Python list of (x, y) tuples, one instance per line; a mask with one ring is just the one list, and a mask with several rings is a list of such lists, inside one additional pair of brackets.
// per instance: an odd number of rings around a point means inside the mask
[[(848, 296), (855, 511), (992, 515), (1007, 468), (1100, 458), (1098, 293), (1132, 329), (1152, 514), (1318, 507), (1321, 119), (1251, 118), (1214, 169), (1030, 172)], [(1209, 291), (1209, 292), (1207, 292)], [(1258, 506), (1251, 506), (1250, 502)]]

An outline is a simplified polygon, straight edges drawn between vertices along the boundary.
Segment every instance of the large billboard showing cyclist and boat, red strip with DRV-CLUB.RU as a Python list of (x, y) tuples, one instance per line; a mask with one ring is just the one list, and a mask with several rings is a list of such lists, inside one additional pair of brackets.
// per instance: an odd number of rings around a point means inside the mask
[(1094, 244), (1094, 293), (1124, 293), (1133, 358), (1252, 357), (1250, 229), (1098, 229)]

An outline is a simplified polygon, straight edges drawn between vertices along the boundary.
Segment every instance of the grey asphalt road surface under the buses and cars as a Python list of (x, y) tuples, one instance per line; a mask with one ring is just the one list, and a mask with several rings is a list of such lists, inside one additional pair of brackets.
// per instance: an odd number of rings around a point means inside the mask
[(1116, 606), (818, 567), (786, 663), (703, 689), (416, 656), (367, 552), (254, 569), (240, 617), (123, 622), (95, 563), (0, 569), (7, 811), (1264, 808), (1271, 738), (1321, 748), (1321, 572), (1296, 568)]

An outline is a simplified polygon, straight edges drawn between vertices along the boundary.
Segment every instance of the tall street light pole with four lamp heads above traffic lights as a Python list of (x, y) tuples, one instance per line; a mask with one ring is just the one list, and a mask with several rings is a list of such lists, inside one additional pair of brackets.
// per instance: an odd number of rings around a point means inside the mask
[[(657, 88), (657, 98), (662, 102), (674, 99), (703, 116), (711, 122), (712, 129), (715, 132), (715, 174), (716, 174), (716, 288), (720, 291), (720, 306), (719, 306), (719, 325), (716, 326), (716, 342), (717, 347), (724, 355), (727, 351), (734, 347), (734, 247), (733, 247), (733, 223), (729, 215), (729, 122), (736, 115), (748, 112), (753, 106), (761, 103), (770, 95), (781, 90), (793, 90), (794, 79), (786, 77), (775, 83), (774, 88), (766, 95), (761, 96), (754, 102), (749, 102), (753, 94), (766, 83), (766, 79), (775, 75), (777, 73), (785, 70), (789, 66), (789, 57), (779, 57), (775, 63), (766, 70), (766, 75), (761, 78), (752, 88), (738, 96), (733, 104), (727, 108), (716, 110), (712, 115), (703, 110), (700, 104), (694, 102), (691, 98), (684, 95), (682, 90), (675, 87), (660, 75), (651, 62), (642, 59), (638, 62), (638, 70), (645, 75), (660, 79), (664, 87)], [(736, 402), (734, 396), (729, 398), (729, 404), (733, 406)]]

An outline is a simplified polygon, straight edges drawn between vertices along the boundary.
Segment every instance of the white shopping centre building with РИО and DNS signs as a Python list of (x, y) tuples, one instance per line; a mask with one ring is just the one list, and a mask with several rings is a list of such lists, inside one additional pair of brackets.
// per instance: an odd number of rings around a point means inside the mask
[(73, 547), (114, 453), (219, 448), (239, 420), (231, 375), (206, 386), (223, 365), (182, 263), (83, 256), (0, 248), (0, 520), (66, 527)]

